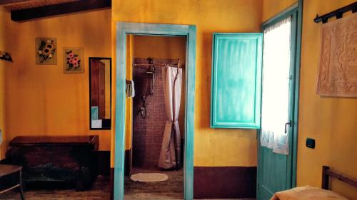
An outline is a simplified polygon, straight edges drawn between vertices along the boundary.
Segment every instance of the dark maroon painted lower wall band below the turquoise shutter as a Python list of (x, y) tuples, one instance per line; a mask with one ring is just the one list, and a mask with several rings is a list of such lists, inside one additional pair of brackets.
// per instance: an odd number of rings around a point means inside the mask
[(256, 167), (194, 167), (194, 199), (256, 198)]

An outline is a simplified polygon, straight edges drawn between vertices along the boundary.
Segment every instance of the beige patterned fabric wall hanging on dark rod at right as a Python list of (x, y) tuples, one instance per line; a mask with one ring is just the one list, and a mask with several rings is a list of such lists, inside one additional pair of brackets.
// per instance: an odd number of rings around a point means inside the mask
[(321, 25), (316, 94), (357, 98), (357, 14)]

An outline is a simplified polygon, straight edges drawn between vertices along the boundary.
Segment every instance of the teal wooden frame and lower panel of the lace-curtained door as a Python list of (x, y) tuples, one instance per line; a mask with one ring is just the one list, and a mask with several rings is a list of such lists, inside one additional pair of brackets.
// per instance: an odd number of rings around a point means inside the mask
[[(258, 171), (257, 200), (268, 200), (276, 191), (291, 189), (296, 186), (296, 152), (298, 135), (298, 77), (301, 55), (301, 19), (302, 0), (281, 12), (273, 19), (263, 23), (262, 29), (273, 26), (291, 16), (291, 65), (289, 85), (288, 115), (292, 126), (288, 127), (288, 155), (276, 154), (272, 149), (260, 144), (261, 130), (258, 130)], [(262, 119), (264, 120), (264, 119)], [(283, 126), (283, 125), (282, 125)]]

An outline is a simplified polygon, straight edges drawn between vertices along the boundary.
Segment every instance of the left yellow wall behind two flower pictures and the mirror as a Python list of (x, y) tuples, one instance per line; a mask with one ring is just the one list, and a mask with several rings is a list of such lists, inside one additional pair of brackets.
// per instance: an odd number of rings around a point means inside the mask
[[(10, 21), (8, 13), (5, 23), (1, 41), (15, 60), (5, 69), (8, 139), (17, 135), (99, 135), (99, 149), (109, 150), (111, 131), (89, 130), (88, 57), (111, 57), (111, 10), (24, 23)], [(35, 65), (35, 38), (44, 36), (57, 38), (57, 65)], [(84, 73), (63, 73), (64, 47), (84, 48)]]

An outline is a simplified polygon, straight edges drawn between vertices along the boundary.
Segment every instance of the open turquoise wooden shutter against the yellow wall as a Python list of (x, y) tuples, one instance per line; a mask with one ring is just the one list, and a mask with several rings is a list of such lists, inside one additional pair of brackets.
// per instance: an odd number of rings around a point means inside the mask
[(260, 127), (263, 33), (213, 33), (211, 127)]

